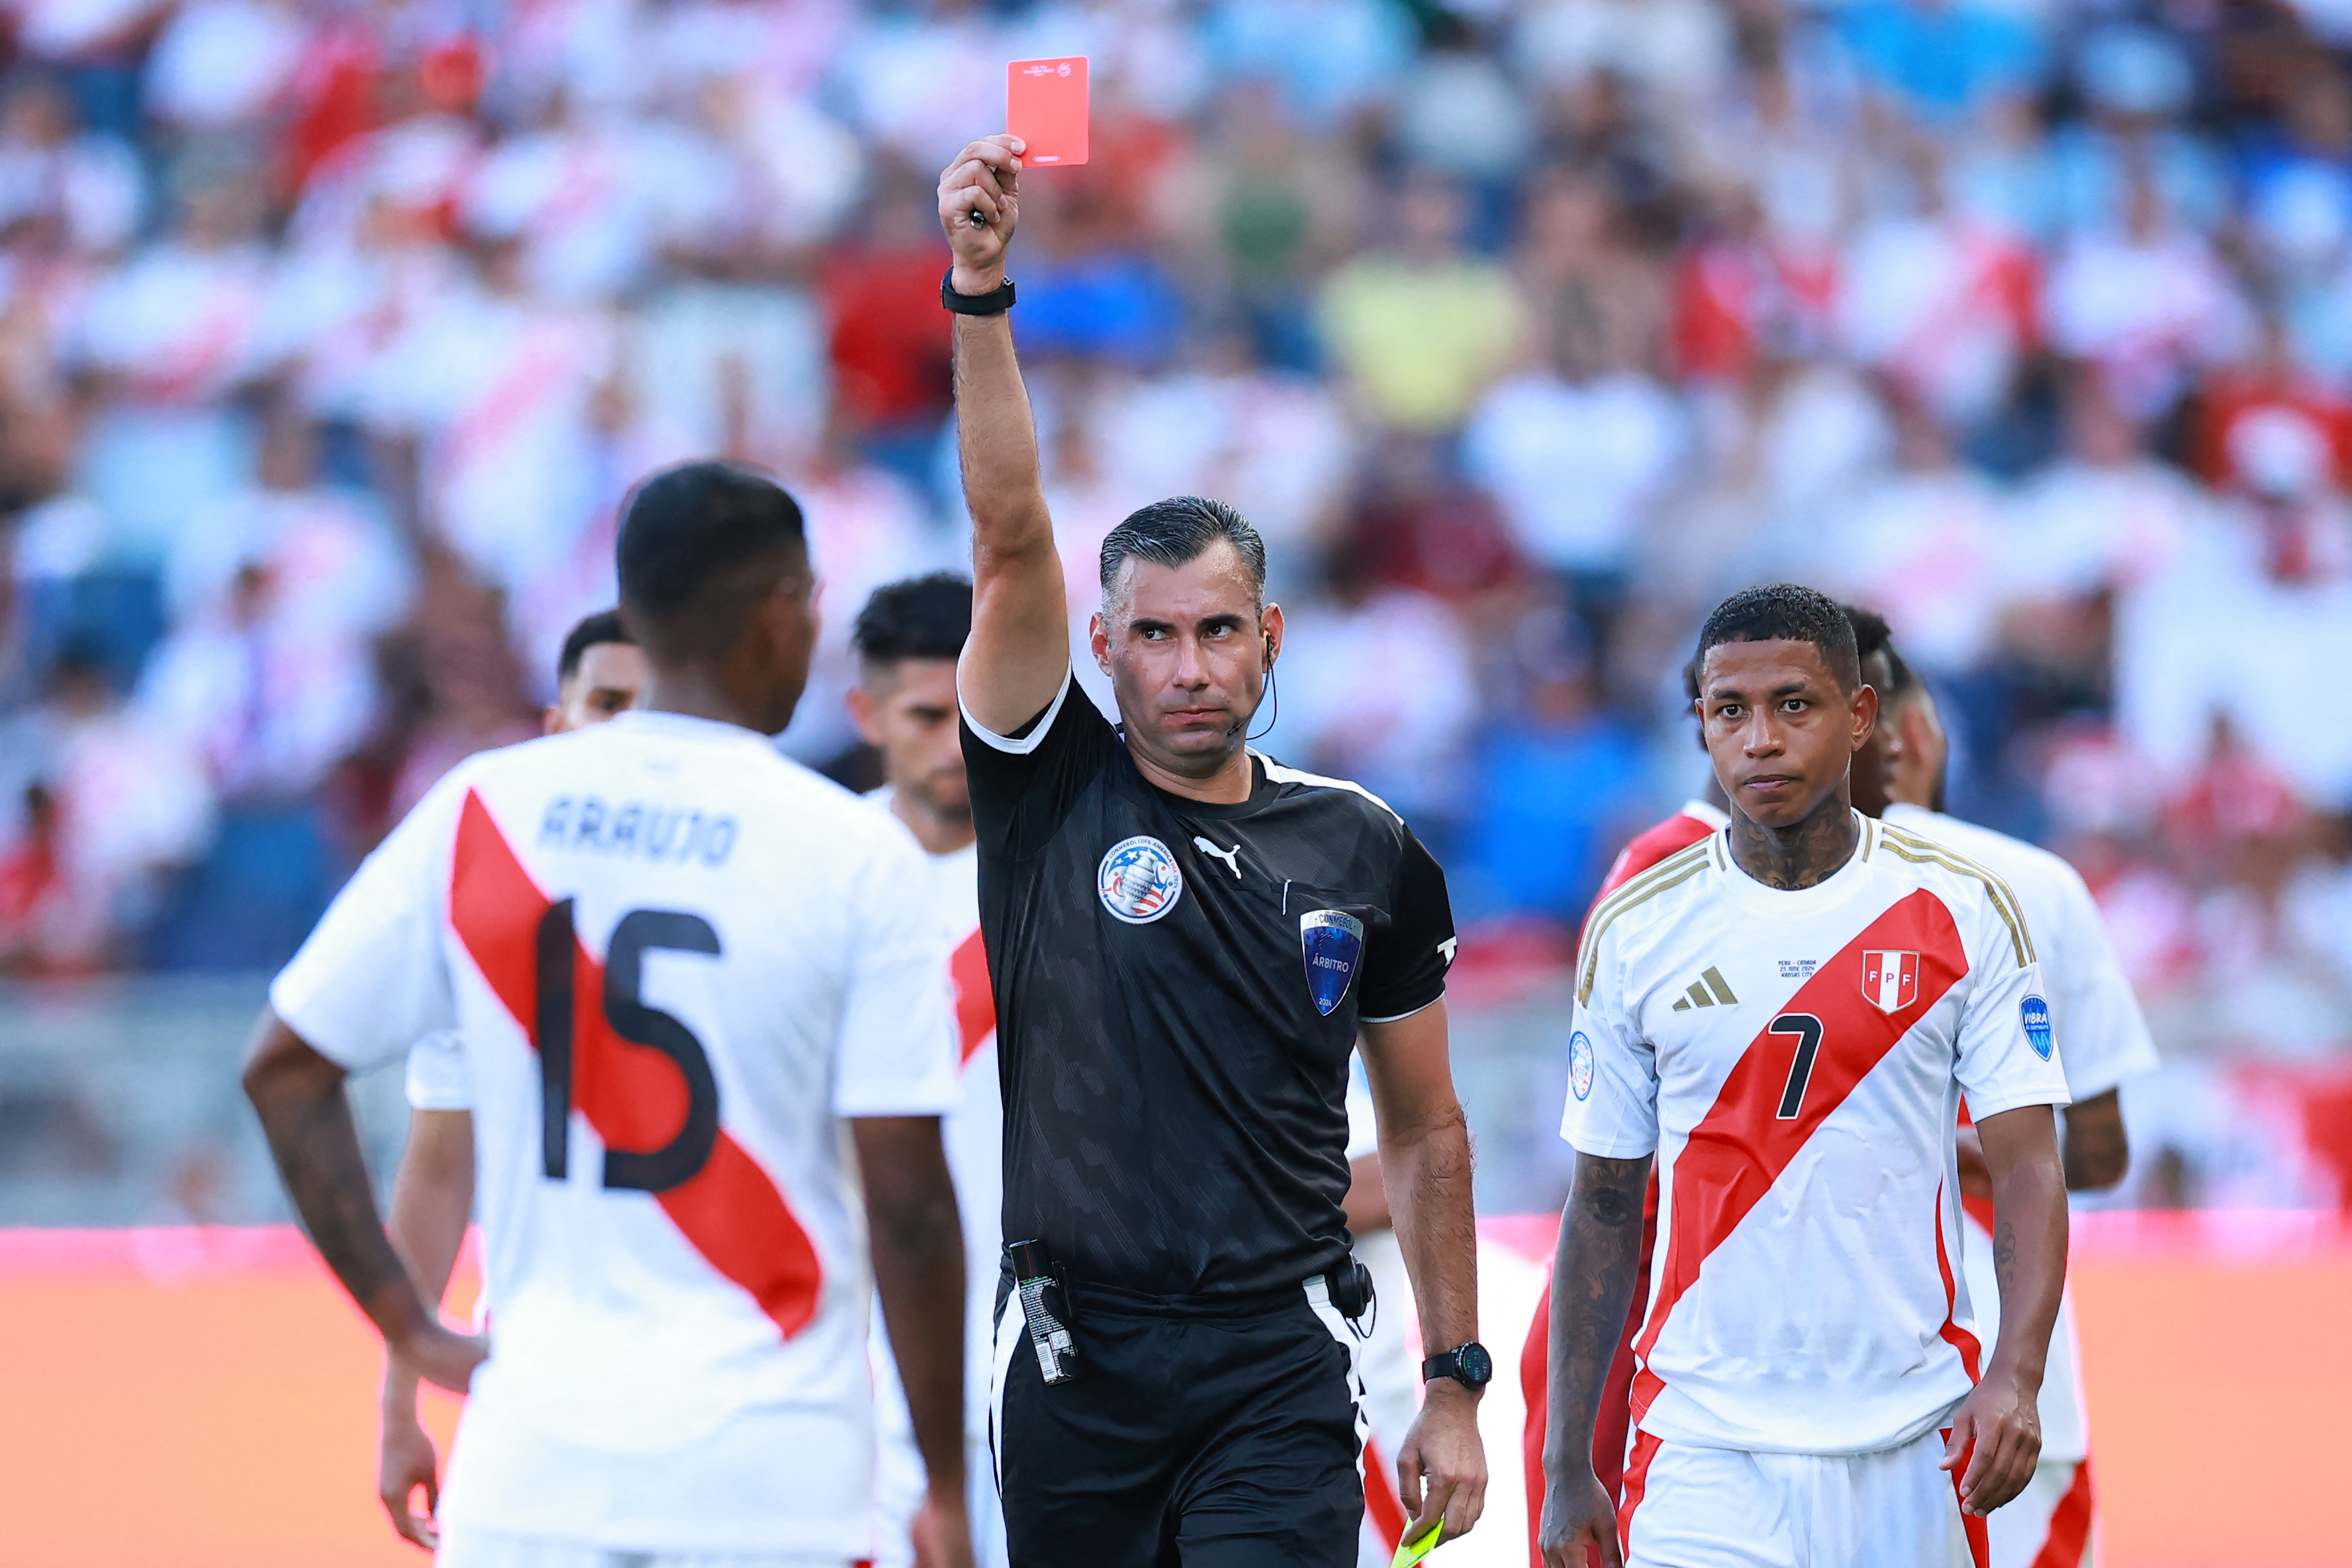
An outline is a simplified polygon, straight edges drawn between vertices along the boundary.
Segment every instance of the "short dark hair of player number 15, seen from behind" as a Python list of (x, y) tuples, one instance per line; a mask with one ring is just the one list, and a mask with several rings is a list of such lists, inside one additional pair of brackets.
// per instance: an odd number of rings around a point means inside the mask
[(647, 649), (715, 656), (771, 569), (807, 559), (800, 503), (741, 463), (680, 463), (637, 484), (614, 550), (621, 616)]

